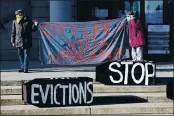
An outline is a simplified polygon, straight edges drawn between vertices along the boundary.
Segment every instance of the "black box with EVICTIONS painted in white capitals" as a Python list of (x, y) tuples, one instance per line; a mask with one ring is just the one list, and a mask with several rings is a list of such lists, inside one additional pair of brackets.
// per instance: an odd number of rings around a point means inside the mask
[(24, 101), (37, 106), (88, 105), (93, 101), (90, 78), (35, 79), (24, 88)]

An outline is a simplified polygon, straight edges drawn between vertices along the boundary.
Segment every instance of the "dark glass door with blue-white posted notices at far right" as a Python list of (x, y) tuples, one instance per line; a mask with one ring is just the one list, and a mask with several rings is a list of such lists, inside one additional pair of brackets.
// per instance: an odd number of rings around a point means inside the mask
[(144, 0), (147, 59), (172, 61), (173, 0)]

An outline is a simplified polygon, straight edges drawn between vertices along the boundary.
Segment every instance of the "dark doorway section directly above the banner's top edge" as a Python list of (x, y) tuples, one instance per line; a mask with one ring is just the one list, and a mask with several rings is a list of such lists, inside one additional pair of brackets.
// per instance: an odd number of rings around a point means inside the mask
[[(77, 20), (93, 21), (121, 18), (125, 15), (124, 0), (79, 0), (77, 2)], [(129, 10), (128, 7), (126, 7)]]

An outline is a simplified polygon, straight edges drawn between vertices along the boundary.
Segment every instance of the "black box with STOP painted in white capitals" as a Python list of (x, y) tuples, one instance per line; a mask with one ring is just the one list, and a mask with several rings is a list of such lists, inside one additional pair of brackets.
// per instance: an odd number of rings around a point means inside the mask
[(155, 84), (155, 71), (153, 62), (108, 62), (97, 66), (96, 80), (114, 85), (152, 85)]

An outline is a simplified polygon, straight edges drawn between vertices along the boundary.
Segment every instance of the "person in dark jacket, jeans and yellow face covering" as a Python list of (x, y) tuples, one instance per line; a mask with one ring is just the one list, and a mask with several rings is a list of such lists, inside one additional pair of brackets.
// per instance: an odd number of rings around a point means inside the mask
[(28, 73), (28, 57), (32, 47), (32, 32), (37, 31), (38, 22), (34, 23), (22, 10), (15, 12), (16, 20), (12, 24), (11, 43), (18, 50), (21, 69), (18, 72)]

